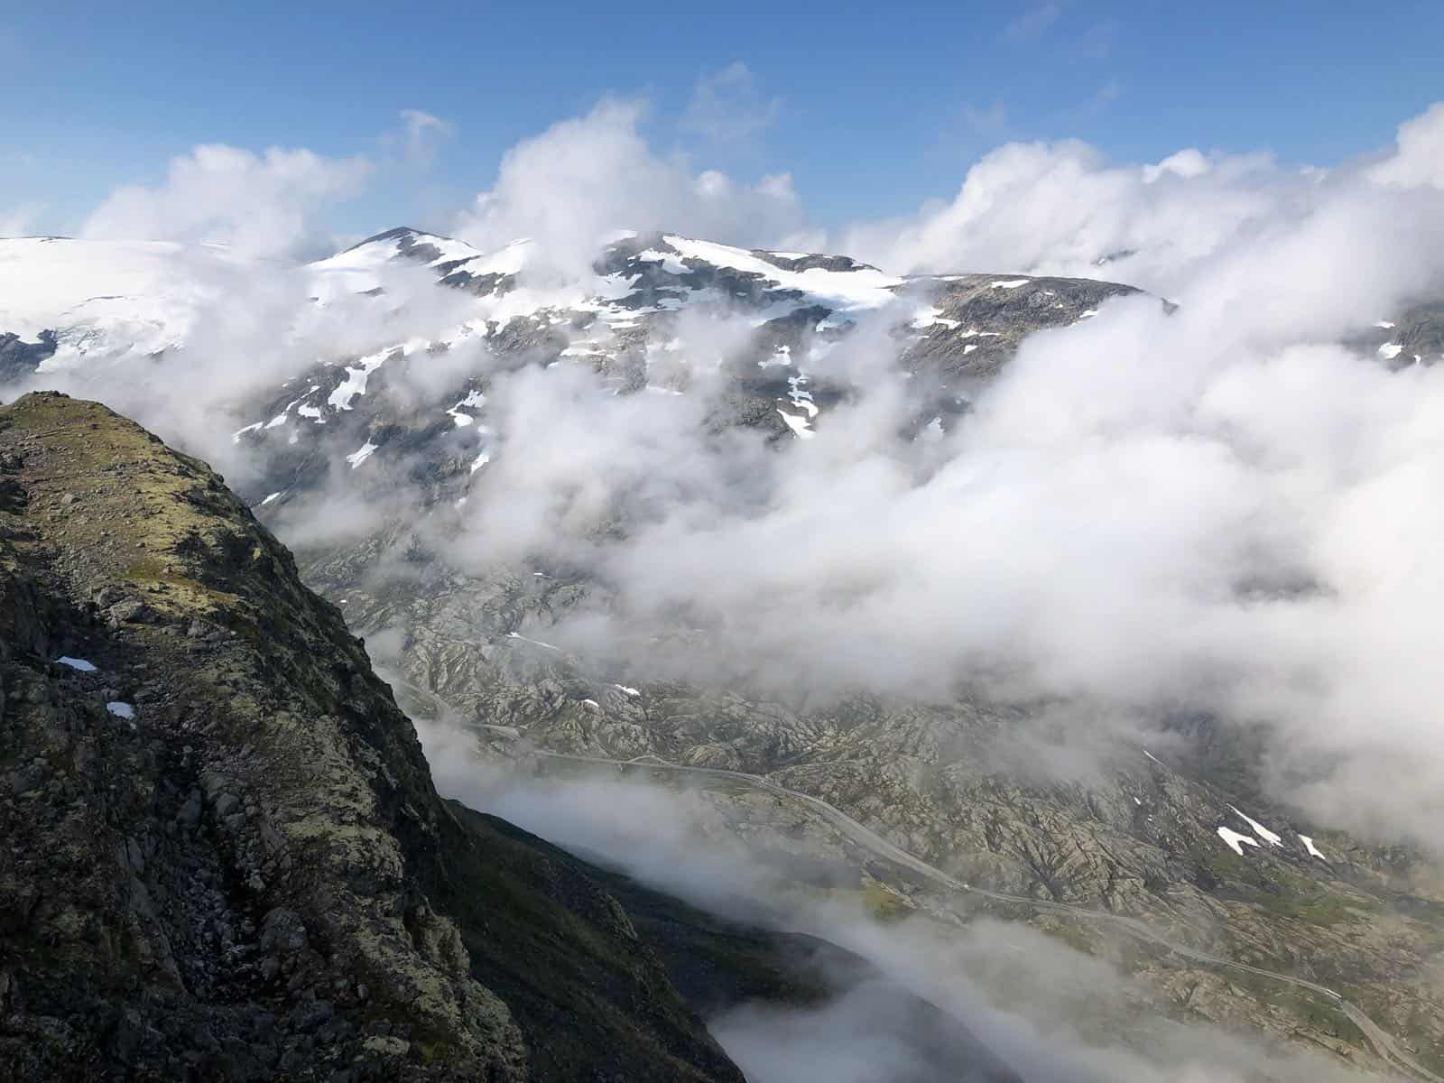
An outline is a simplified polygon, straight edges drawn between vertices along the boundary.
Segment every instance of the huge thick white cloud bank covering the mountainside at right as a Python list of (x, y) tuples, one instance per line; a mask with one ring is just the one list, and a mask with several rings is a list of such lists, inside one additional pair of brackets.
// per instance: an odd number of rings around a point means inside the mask
[(591, 567), (609, 608), (556, 638), (660, 670), (656, 630), (682, 621), (709, 635), (692, 676), (946, 699), (986, 674), (1102, 719), (1209, 709), (1261, 729), (1281, 800), (1432, 845), (1438, 578), (1417, 554), (1444, 368), (1341, 344), (1444, 283), (1444, 196), (1375, 173), (1412, 160), (1411, 131), (1321, 182), (1266, 156), (1001, 149), (894, 243), (944, 269), (1116, 253), (1183, 308), (1035, 334), (931, 445), (898, 439), (917, 404), (888, 315), (807, 362), (855, 394), (783, 455), (719, 445), (686, 401), (529, 375), (498, 413), (518, 461), (504, 446), (453, 556)]

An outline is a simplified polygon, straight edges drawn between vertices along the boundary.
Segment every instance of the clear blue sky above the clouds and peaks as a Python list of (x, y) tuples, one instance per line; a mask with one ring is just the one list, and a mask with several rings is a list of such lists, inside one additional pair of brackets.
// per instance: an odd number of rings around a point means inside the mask
[[(833, 227), (947, 198), (1012, 139), (1328, 165), (1444, 97), (1441, 40), (1438, 3), (14, 4), (0, 215), (74, 230), (198, 143), (377, 155), (414, 108), (451, 139), (425, 173), (378, 173), (335, 227), (436, 224), (518, 139), (618, 94), (650, 101), (658, 152), (790, 172)], [(745, 79), (719, 81), (735, 64)], [(726, 108), (699, 110), (709, 85)]]

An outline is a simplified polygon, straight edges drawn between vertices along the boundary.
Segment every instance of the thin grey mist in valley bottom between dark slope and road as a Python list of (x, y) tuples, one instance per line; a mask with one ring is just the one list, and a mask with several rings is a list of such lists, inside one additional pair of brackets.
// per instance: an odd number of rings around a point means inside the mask
[(982, 1079), (976, 1054), (949, 1058), (966, 1048), (949, 1032), (959, 1024), (1030, 1083), (1354, 1079), (1315, 1056), (1141, 1009), (1128, 975), (1028, 927), (986, 917), (881, 924), (855, 901), (768, 872), (718, 829), (705, 793), (529, 778), (475, 760), (474, 738), (449, 721), (417, 728), (443, 794), (705, 910), (816, 936), (872, 963), (874, 976), (822, 1005), (748, 1004), (708, 1021), (754, 1083)]

